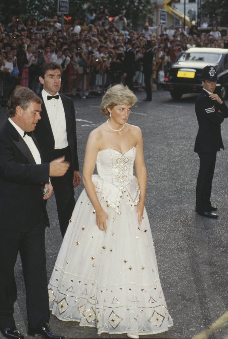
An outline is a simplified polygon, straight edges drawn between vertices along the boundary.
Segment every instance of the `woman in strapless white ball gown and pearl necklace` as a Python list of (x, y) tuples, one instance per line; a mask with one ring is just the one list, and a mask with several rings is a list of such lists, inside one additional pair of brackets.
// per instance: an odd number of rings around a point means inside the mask
[[(136, 101), (122, 84), (102, 99), (108, 120), (89, 135), (85, 188), (49, 283), (50, 309), (58, 319), (130, 338), (164, 332), (173, 324), (144, 207), (142, 134), (127, 123)], [(98, 175), (93, 175), (95, 164)]]

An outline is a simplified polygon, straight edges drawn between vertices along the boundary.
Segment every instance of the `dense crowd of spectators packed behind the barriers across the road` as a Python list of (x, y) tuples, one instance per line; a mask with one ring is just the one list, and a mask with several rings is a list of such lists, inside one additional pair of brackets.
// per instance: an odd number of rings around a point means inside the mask
[[(15, 86), (25, 86), (39, 92), (39, 66), (45, 61), (62, 65), (61, 91), (69, 96), (101, 95), (102, 88), (124, 82), (122, 65), (125, 40), (131, 38), (135, 52), (135, 90), (144, 88), (142, 56), (147, 40), (152, 41), (152, 82), (159, 85), (169, 66), (190, 47), (224, 48), (227, 37), (221, 37), (216, 23), (211, 32), (201, 33), (197, 25), (174, 28), (151, 27), (146, 23), (140, 31), (128, 27), (124, 12), (112, 18), (102, 6), (88, 8), (84, 20), (73, 18), (69, 25), (60, 19), (28, 18), (24, 22), (11, 17), (0, 22), (0, 78), (4, 98), (9, 98)], [(4, 84), (3, 84), (4, 82)]]

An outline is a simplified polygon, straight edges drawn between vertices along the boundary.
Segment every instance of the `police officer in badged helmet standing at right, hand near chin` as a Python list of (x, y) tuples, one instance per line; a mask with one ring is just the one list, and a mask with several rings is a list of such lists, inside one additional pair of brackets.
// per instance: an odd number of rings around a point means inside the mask
[(217, 207), (211, 205), (211, 186), (216, 162), (216, 153), (224, 149), (221, 136), (221, 123), (228, 117), (228, 107), (214, 94), (217, 74), (214, 66), (203, 68), (203, 89), (195, 103), (195, 113), (198, 120), (198, 133), (194, 152), (199, 156), (199, 173), (196, 183), (195, 212), (207, 218), (216, 219), (213, 211)]

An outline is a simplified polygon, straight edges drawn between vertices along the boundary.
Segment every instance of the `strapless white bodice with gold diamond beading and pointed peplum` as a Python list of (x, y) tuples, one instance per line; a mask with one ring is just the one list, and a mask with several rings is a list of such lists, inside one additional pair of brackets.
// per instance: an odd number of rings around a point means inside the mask
[(135, 153), (136, 147), (131, 147), (124, 154), (107, 148), (97, 155), (98, 175), (92, 176), (96, 192), (102, 192), (103, 199), (117, 212), (123, 193), (127, 195), (132, 207), (139, 201), (137, 178), (133, 175)]

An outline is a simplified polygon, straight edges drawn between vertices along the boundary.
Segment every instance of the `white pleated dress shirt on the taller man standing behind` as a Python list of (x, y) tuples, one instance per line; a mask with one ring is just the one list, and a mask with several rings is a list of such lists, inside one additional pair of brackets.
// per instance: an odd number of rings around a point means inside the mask
[[(57, 95), (58, 93), (56, 93)], [(55, 139), (55, 149), (61, 149), (68, 146), (67, 141), (67, 128), (65, 112), (62, 104), (62, 100), (59, 97), (58, 100), (48, 100), (47, 97), (50, 95), (44, 89), (42, 90), (43, 102), (48, 113), (49, 121), (52, 127), (52, 133)], [(42, 119), (42, 112), (41, 112)]]

